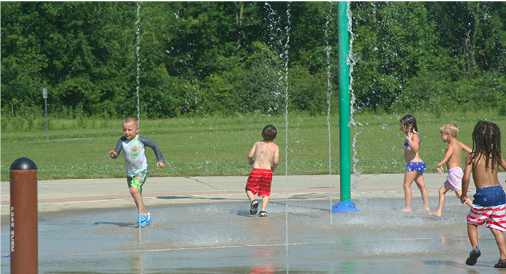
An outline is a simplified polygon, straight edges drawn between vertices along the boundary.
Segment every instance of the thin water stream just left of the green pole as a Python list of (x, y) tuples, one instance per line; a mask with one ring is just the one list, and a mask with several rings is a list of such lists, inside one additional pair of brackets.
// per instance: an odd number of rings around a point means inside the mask
[[(330, 109), (332, 107), (332, 77), (330, 75), (330, 51), (332, 47), (329, 45), (329, 29), (330, 23), (332, 22), (332, 2), (330, 2), (330, 8), (327, 12), (327, 22), (325, 22), (325, 53), (327, 53), (327, 127), (329, 132), (329, 199), (330, 207), (332, 208), (332, 139), (330, 138)], [(330, 214), (330, 225), (332, 225), (332, 214)]]

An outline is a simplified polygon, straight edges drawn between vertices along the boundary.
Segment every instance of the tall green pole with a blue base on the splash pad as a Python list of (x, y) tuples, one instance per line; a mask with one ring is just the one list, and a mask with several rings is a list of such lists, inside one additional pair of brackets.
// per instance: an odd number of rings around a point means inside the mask
[(356, 212), (351, 201), (351, 151), (349, 131), (349, 65), (347, 63), (348, 36), (348, 2), (338, 2), (338, 55), (339, 55), (339, 149), (341, 160), (341, 202), (332, 206), (332, 213)]

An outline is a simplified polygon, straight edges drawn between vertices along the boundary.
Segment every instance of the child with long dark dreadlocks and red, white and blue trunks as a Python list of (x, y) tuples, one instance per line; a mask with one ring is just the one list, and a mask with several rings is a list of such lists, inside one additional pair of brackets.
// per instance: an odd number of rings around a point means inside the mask
[(472, 132), (472, 152), (465, 158), (462, 178), (461, 202), (468, 199), (469, 181), (472, 173), (476, 194), (468, 214), (468, 236), (472, 251), (465, 264), (474, 265), (481, 251), (478, 247), (478, 226), (485, 224), (496, 239), (501, 253), (496, 268), (506, 268), (506, 194), (499, 183), (499, 166), (506, 169), (506, 160), (501, 155), (501, 131), (487, 121), (479, 121)]

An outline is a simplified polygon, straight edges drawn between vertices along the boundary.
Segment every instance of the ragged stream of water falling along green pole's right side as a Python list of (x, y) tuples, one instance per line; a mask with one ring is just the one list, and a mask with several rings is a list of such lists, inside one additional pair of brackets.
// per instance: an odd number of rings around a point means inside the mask
[(353, 184), (353, 190), (355, 192), (357, 192), (358, 194), (360, 194), (360, 191), (357, 190), (357, 183), (358, 183), (358, 177), (360, 176), (360, 172), (358, 172), (356, 169), (356, 166), (358, 164), (357, 151), (356, 151), (356, 139), (357, 139), (358, 134), (360, 134), (360, 130), (358, 130), (357, 126), (359, 125), (360, 127), (363, 127), (363, 125), (361, 123), (358, 123), (354, 119), (354, 112), (356, 112), (356, 109), (355, 109), (356, 97), (355, 97), (355, 93), (353, 90), (353, 76), (352, 76), (353, 67), (355, 66), (356, 62), (358, 62), (358, 60), (360, 60), (360, 55), (353, 54), (353, 42), (355, 39), (354, 39), (353, 31), (352, 31), (353, 14), (352, 14), (351, 10), (349, 10), (349, 2), (347, 3), (347, 12), (346, 13), (347, 13), (347, 17), (348, 17), (348, 32), (349, 32), (349, 37), (350, 37), (350, 39), (349, 39), (349, 53), (348, 53), (348, 57), (347, 57), (347, 64), (349, 66), (349, 92), (351, 94), (351, 99), (349, 102), (349, 108), (350, 108), (349, 125), (353, 125), (355, 127), (355, 134), (353, 136), (353, 142), (352, 142), (353, 175), (355, 177), (355, 182)]

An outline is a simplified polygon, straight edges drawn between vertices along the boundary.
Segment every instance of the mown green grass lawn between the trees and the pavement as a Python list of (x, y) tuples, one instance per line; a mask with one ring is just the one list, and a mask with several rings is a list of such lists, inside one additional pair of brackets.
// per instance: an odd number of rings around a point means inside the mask
[[(439, 127), (456, 121), (458, 139), (472, 147), (472, 129), (477, 121), (497, 123), (506, 136), (506, 116), (493, 112), (472, 114), (414, 114), (422, 136), (420, 156), (428, 172), (444, 156), (446, 144), (441, 141)], [(356, 136), (357, 173), (404, 173), (399, 130), (401, 115), (357, 114), (361, 125), (352, 127)], [(30, 125), (26, 125), (30, 123)], [(240, 117), (177, 118), (143, 120), (140, 134), (159, 145), (165, 157), (165, 168), (157, 168), (156, 158), (146, 150), (150, 176), (214, 176), (249, 175), (251, 166), (246, 155), (262, 128), (273, 124), (278, 130), (275, 140), (280, 149), (280, 162), (275, 175), (311, 175), (329, 173), (329, 136), (326, 116), (288, 114), (288, 148), (284, 116), (248, 114)], [(38, 129), (27, 129), (30, 127)], [(38, 167), (38, 179), (124, 177), (122, 155), (108, 157), (122, 136), (120, 120), (49, 120), (49, 142), (45, 142), (45, 121), (19, 121), (2, 117), (1, 180), (9, 180), (10, 164), (17, 158), (32, 159)], [(357, 135), (355, 135), (357, 133)], [(339, 173), (338, 116), (331, 117), (332, 174)], [(503, 151), (505, 150), (503, 138)], [(288, 151), (288, 165), (285, 157)], [(352, 149), (352, 159), (353, 159)], [(286, 169), (288, 166), (288, 169)], [(354, 162), (352, 160), (352, 169)], [(354, 171), (352, 170), (352, 173)]]

